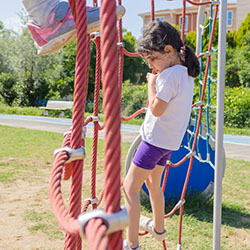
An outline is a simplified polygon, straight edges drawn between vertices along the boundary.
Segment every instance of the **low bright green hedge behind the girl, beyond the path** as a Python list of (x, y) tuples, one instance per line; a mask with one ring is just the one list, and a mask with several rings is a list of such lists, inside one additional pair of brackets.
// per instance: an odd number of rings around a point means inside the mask
[[(195, 85), (194, 101), (199, 100), (199, 85)], [(205, 92), (204, 101), (207, 103), (207, 89)], [(216, 84), (211, 84), (210, 100), (211, 105), (216, 106), (217, 90)], [(146, 107), (147, 103), (147, 85), (129, 85), (124, 84), (122, 87), (122, 114), (129, 116), (140, 108)], [(139, 116), (141, 117), (141, 116)], [(203, 115), (203, 122), (205, 115)], [(216, 109), (209, 110), (210, 125), (216, 122)], [(250, 128), (250, 88), (235, 87), (225, 88), (225, 109), (224, 109), (224, 124), (231, 128)]]

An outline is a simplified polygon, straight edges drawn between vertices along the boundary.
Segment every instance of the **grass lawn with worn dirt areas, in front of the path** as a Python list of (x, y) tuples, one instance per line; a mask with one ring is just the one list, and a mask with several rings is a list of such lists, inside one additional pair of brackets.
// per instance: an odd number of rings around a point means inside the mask
[[(60, 148), (57, 133), (0, 126), (0, 249), (63, 249), (64, 233), (51, 212), (48, 182), (53, 151)], [(103, 145), (99, 140), (97, 196), (103, 188)], [(130, 143), (122, 143), (122, 176)], [(86, 139), (83, 172), (83, 199), (90, 196), (92, 140)], [(223, 179), (221, 226), (222, 250), (250, 249), (250, 164), (227, 159)], [(71, 181), (62, 182), (64, 201), (69, 200)], [(122, 202), (123, 203), (123, 202)], [(103, 203), (100, 205), (103, 208)], [(166, 212), (173, 204), (166, 206)], [(144, 215), (152, 216), (143, 204)], [(176, 249), (178, 212), (165, 220), (167, 249)], [(189, 250), (212, 249), (213, 198), (199, 197), (186, 202), (183, 217), (182, 247)], [(163, 249), (151, 236), (140, 238), (143, 249)], [(7, 248), (6, 248), (7, 246)], [(87, 249), (85, 241), (83, 249)]]

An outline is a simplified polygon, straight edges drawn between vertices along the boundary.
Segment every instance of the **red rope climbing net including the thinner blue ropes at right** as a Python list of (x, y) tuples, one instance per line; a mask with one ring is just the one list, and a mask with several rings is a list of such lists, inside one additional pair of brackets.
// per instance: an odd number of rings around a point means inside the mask
[[(181, 161), (171, 163), (168, 161), (166, 166), (164, 181), (162, 189), (165, 190), (167, 175), (169, 167), (178, 167), (186, 160), (189, 160), (186, 180), (183, 186), (180, 201), (176, 206), (165, 215), (165, 218), (172, 216), (180, 208), (180, 222), (179, 222), (179, 237), (178, 246), (181, 246), (181, 231), (182, 231), (182, 217), (184, 209), (184, 198), (187, 190), (193, 158), (197, 157), (200, 161), (209, 162), (210, 147), (209, 143), (213, 139), (210, 131), (209, 113), (210, 108), (210, 85), (214, 82), (211, 76), (211, 54), (214, 51), (212, 47), (215, 24), (218, 14), (219, 1), (208, 1), (198, 3), (191, 0), (183, 0), (182, 12), (182, 31), (181, 38), (184, 41), (185, 15), (186, 3), (194, 5), (209, 5), (211, 4), (211, 17), (209, 21), (210, 35), (208, 51), (197, 55), (200, 58), (201, 69), (204, 57), (206, 56), (206, 67), (204, 74), (200, 74), (200, 97), (199, 102), (193, 104), (195, 114), (194, 124), (189, 126), (188, 132), (188, 146), (190, 151)], [(121, 120), (128, 121), (139, 114), (145, 112), (146, 108), (141, 108), (129, 117), (121, 117), (121, 89), (122, 89), (122, 75), (123, 75), (123, 61), (124, 55), (130, 57), (139, 56), (138, 53), (127, 51), (122, 44), (122, 19), (118, 22), (118, 32), (116, 29), (116, 2), (115, 0), (102, 0), (100, 19), (101, 19), (101, 37), (96, 37), (93, 34), (87, 34), (87, 15), (86, 15), (86, 1), (69, 0), (70, 8), (74, 15), (75, 25), (77, 28), (77, 57), (75, 68), (75, 83), (74, 83), (74, 107), (72, 114), (72, 129), (65, 133), (60, 149), (55, 155), (54, 164), (50, 176), (50, 199), (52, 210), (56, 217), (58, 224), (66, 231), (65, 249), (81, 249), (81, 237), (79, 236), (82, 228), (80, 228), (77, 217), (81, 213), (85, 213), (90, 205), (96, 209), (102, 199), (105, 200), (105, 212), (112, 214), (120, 211), (121, 200), (121, 135), (120, 125)], [(118, 5), (122, 1), (118, 0)], [(215, 10), (213, 12), (213, 6)], [(93, 6), (97, 7), (97, 0), (93, 1)], [(151, 0), (151, 21), (155, 19), (154, 0)], [(204, 27), (203, 28), (207, 28)], [(94, 39), (96, 45), (96, 70), (95, 70), (95, 89), (94, 89), (94, 109), (93, 116), (84, 118), (85, 103), (88, 88), (88, 72), (90, 60), (90, 39)], [(119, 57), (117, 57), (117, 51)], [(102, 65), (102, 75), (101, 75)], [(103, 84), (103, 109), (105, 120), (101, 125), (98, 117), (99, 107), (99, 92), (100, 81), (102, 78)], [(207, 89), (207, 104), (204, 105), (205, 90)], [(202, 113), (203, 109), (206, 111), (207, 134), (202, 134)], [(121, 119), (119, 119), (121, 117)], [(91, 159), (91, 197), (86, 199), (82, 204), (82, 174), (84, 160), (83, 157), (69, 162), (71, 153), (65, 148), (69, 147), (73, 150), (84, 149), (85, 144), (85, 127), (88, 123), (94, 123), (93, 130), (93, 149)], [(98, 133), (105, 127), (105, 159), (104, 159), (104, 173), (105, 185), (103, 190), (97, 198), (96, 194), (96, 165), (97, 165), (97, 147), (98, 147)], [(207, 145), (207, 159), (201, 159), (199, 154), (199, 140), (206, 139)], [(61, 191), (61, 181), (72, 178), (71, 193), (69, 208), (67, 209)], [(122, 249), (122, 231), (106, 236), (108, 227), (102, 218), (92, 218), (84, 227), (84, 234), (87, 238), (89, 249)], [(140, 233), (145, 235), (147, 232)], [(163, 249), (166, 249), (166, 243), (163, 241)]]

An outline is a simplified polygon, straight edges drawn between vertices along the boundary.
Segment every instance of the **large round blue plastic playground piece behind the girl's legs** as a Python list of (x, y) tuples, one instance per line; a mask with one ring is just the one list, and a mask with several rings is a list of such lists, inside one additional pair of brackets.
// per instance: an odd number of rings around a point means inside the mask
[[(170, 161), (177, 163), (185, 155), (190, 153), (192, 142), (194, 139), (194, 126), (195, 121), (191, 120), (189, 127), (185, 133), (182, 141), (182, 145), (178, 151), (174, 151), (171, 154)], [(195, 156), (193, 160), (192, 170), (187, 186), (187, 192), (185, 198), (194, 195), (201, 194), (205, 199), (210, 198), (213, 195), (214, 187), (214, 160), (215, 160), (215, 133), (211, 129), (209, 133), (207, 127), (202, 124), (199, 130), (199, 136), (196, 143)], [(141, 137), (138, 136), (128, 152), (126, 159), (126, 172), (129, 169), (133, 155), (141, 142)], [(222, 152), (225, 155), (224, 152)], [(178, 167), (169, 167), (169, 173), (165, 188), (165, 201), (170, 200), (178, 201), (181, 197), (183, 185), (186, 179), (189, 160), (186, 160)], [(224, 166), (223, 166), (224, 167)], [(166, 170), (166, 169), (165, 169)], [(164, 170), (164, 173), (165, 173)], [(163, 176), (164, 176), (163, 173)], [(163, 177), (162, 177), (163, 181)], [(148, 194), (146, 185), (143, 185), (143, 191)]]

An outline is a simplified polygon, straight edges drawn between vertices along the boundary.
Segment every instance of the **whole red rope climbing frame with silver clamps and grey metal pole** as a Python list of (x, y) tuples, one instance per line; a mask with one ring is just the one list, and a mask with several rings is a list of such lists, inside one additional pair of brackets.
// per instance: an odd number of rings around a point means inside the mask
[[(197, 109), (195, 120), (196, 129), (191, 133), (191, 142), (189, 154), (185, 155), (178, 163), (169, 162), (169, 167), (177, 167), (189, 160), (187, 175), (184, 187), (181, 193), (181, 199), (174, 209), (165, 217), (171, 216), (180, 208), (180, 225), (178, 249), (181, 249), (181, 229), (182, 216), (184, 209), (184, 197), (188, 188), (188, 181), (191, 174), (192, 164), (195, 158), (196, 144), (198, 135), (202, 127), (201, 118), (204, 106), (204, 94), (209, 78), (210, 57), (212, 53), (212, 38), (218, 5), (220, 11), (220, 29), (219, 29), (219, 55), (218, 55), (218, 97), (217, 97), (217, 119), (216, 119), (216, 142), (215, 142), (215, 205), (214, 205), (214, 250), (220, 249), (220, 220), (221, 220), (221, 182), (223, 175), (223, 108), (224, 108), (224, 75), (225, 75), (225, 27), (226, 27), (226, 1), (208, 1), (192, 2), (183, 0), (183, 17), (185, 17), (186, 2), (196, 5), (212, 4), (215, 5), (215, 14), (212, 21), (210, 42), (208, 51), (201, 53), (200, 58), (207, 56), (207, 63), (203, 81), (201, 84), (200, 101), (193, 105)], [(122, 230), (128, 224), (126, 210), (121, 209), (120, 205), (120, 124), (121, 117), (121, 83), (122, 83), (122, 65), (123, 54), (128, 56), (138, 56), (125, 50), (122, 44), (122, 21), (119, 21), (119, 32), (116, 30), (116, 2), (115, 0), (103, 0), (100, 12), (101, 18), (101, 38), (96, 34), (87, 35), (87, 17), (86, 2), (82, 0), (69, 1), (77, 28), (77, 58), (74, 86), (74, 106), (72, 117), (72, 129), (65, 133), (62, 148), (55, 151), (55, 161), (50, 177), (50, 199), (52, 210), (59, 225), (67, 234), (65, 238), (65, 249), (81, 249), (80, 234), (84, 234), (88, 241), (89, 249), (122, 249)], [(118, 0), (121, 5), (121, 0)], [(97, 0), (93, 1), (97, 6)], [(151, 19), (154, 20), (154, 1), (151, 0)], [(185, 18), (182, 18), (185, 20)], [(182, 31), (184, 30), (184, 21)], [(84, 109), (87, 96), (88, 69), (89, 69), (89, 51), (90, 39), (94, 39), (97, 48), (96, 61), (96, 84), (95, 84), (95, 102), (93, 116), (84, 119)], [(184, 32), (182, 32), (184, 40)], [(118, 47), (118, 48), (117, 48)], [(117, 55), (119, 51), (119, 60)], [(105, 120), (102, 126), (99, 125), (98, 100), (100, 89), (100, 65), (102, 65), (102, 83), (103, 83), (103, 105)], [(118, 70), (119, 68), (119, 70)], [(111, 73), (110, 73), (111, 72)], [(207, 106), (209, 110), (209, 106)], [(123, 118), (128, 120), (143, 112), (139, 110), (131, 117)], [(83, 208), (81, 206), (81, 188), (82, 172), (85, 157), (84, 139), (86, 135), (85, 126), (89, 122), (94, 122), (94, 139), (92, 153), (92, 175), (91, 175), (91, 197), (85, 200)], [(95, 171), (96, 154), (98, 143), (98, 130), (105, 127), (105, 186), (103, 192), (96, 197), (95, 190)], [(209, 126), (207, 126), (207, 131)], [(211, 132), (208, 131), (210, 136)], [(210, 137), (209, 137), (210, 138)], [(208, 145), (211, 144), (208, 142)], [(209, 146), (208, 146), (209, 148)], [(203, 153), (198, 152), (203, 158)], [(210, 158), (211, 159), (211, 158)], [(166, 173), (167, 171), (165, 171)], [(72, 177), (71, 195), (69, 209), (66, 208), (62, 199), (61, 180), (67, 180)], [(166, 175), (164, 176), (166, 180)], [(163, 180), (163, 182), (164, 182)], [(165, 188), (165, 187), (164, 187)], [(96, 209), (101, 202), (102, 197), (105, 200), (105, 211)], [(93, 211), (86, 212), (89, 205), (92, 205)], [(166, 249), (163, 241), (163, 248)]]

